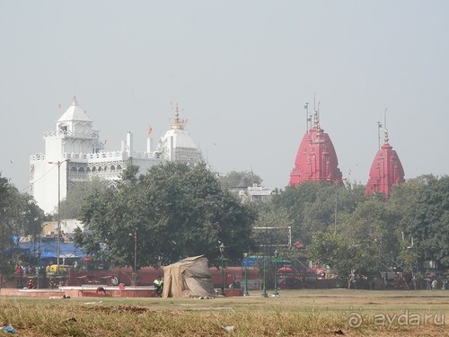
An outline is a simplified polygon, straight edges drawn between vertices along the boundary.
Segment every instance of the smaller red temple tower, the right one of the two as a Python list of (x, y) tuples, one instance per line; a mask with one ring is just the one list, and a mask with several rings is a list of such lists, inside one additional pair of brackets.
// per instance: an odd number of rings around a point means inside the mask
[(388, 198), (392, 192), (392, 186), (401, 182), (405, 182), (401, 160), (388, 144), (388, 132), (385, 130), (385, 142), (374, 157), (365, 194), (379, 191)]

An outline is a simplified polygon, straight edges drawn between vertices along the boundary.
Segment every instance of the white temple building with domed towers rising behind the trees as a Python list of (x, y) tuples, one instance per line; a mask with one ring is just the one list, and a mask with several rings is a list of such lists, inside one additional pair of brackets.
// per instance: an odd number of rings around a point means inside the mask
[(66, 198), (67, 191), (77, 182), (94, 178), (119, 182), (121, 173), (129, 164), (139, 166), (146, 173), (155, 164), (174, 161), (186, 164), (205, 162), (198, 146), (184, 129), (178, 108), (172, 129), (157, 141), (153, 149), (148, 134), (146, 151), (136, 152), (133, 134), (127, 133), (118, 151), (104, 151), (100, 132), (92, 127), (92, 120), (76, 102), (76, 98), (57, 120), (56, 130), (44, 133), (45, 153), (31, 155), (30, 193), (46, 213), (57, 210), (58, 200)]

